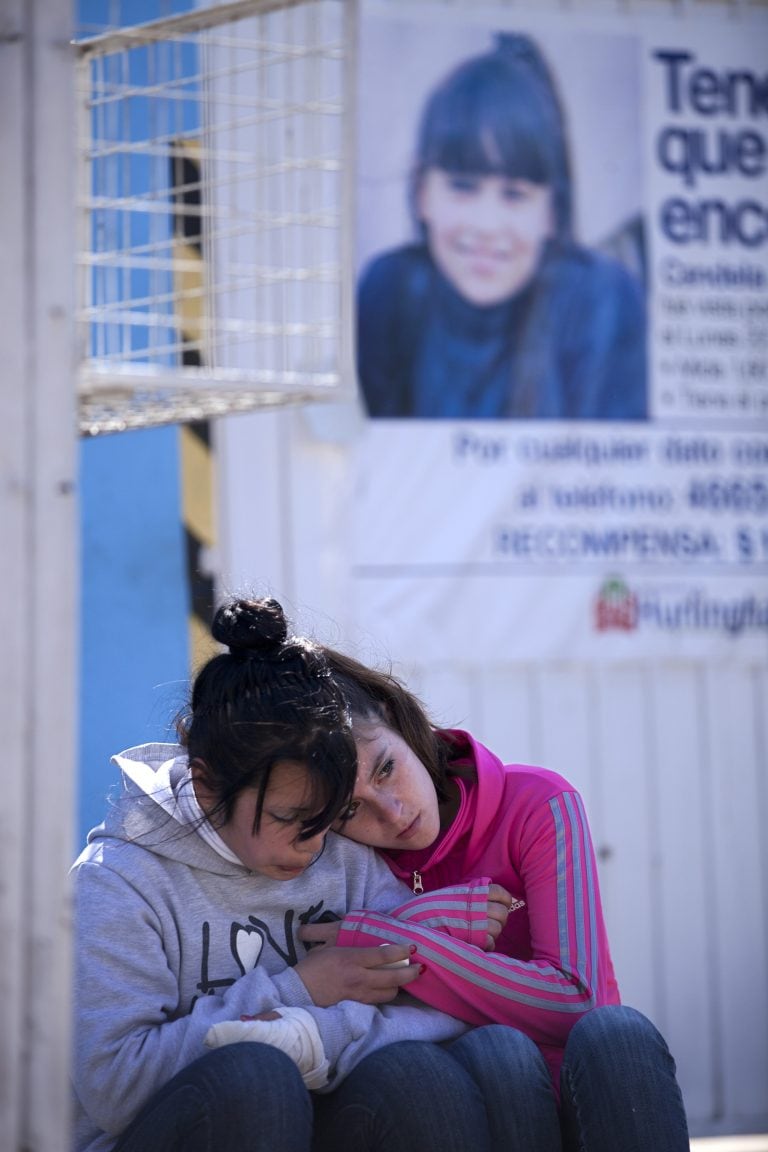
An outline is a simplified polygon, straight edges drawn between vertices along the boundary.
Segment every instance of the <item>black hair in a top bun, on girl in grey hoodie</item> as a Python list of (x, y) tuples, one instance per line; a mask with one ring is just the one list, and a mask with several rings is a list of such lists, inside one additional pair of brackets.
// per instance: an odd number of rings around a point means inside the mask
[(309, 840), (333, 824), (355, 785), (350, 713), (320, 645), (288, 635), (276, 600), (236, 599), (216, 612), (212, 635), (228, 647), (197, 675), (177, 729), (190, 765), (218, 802), (215, 826), (237, 796), (256, 788), (256, 828), (275, 764), (305, 765), (317, 811), (302, 825)]

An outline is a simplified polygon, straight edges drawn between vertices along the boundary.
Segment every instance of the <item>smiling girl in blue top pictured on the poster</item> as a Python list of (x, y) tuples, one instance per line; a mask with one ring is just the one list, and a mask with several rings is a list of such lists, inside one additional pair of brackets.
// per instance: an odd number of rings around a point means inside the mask
[(358, 290), (371, 416), (647, 418), (644, 289), (573, 241), (564, 118), (529, 37), (434, 90), (411, 210), (419, 240)]

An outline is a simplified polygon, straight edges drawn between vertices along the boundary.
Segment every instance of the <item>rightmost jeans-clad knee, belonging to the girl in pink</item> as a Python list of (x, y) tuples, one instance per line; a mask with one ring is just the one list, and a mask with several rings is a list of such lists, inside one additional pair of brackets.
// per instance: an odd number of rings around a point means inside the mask
[(560, 1084), (569, 1152), (689, 1152), (675, 1061), (634, 1008), (609, 1005), (581, 1017)]

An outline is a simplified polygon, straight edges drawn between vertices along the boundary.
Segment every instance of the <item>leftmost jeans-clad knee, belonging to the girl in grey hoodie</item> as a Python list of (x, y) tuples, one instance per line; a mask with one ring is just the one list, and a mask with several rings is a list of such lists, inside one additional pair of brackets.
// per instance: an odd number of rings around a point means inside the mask
[(214, 1048), (150, 1099), (114, 1152), (310, 1152), (312, 1104), (294, 1061), (265, 1044)]

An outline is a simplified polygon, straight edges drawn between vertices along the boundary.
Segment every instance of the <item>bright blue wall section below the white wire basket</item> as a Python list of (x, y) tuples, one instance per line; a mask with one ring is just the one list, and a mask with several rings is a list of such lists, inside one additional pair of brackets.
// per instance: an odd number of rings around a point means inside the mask
[(104, 814), (109, 757), (173, 738), (189, 675), (175, 427), (81, 448), (79, 840)]

